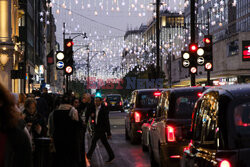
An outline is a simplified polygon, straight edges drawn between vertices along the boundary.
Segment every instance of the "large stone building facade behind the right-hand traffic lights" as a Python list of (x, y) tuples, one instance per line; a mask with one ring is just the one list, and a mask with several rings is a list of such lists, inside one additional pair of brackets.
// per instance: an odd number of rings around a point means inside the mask
[[(187, 3), (188, 4), (188, 3)], [(249, 82), (250, 62), (243, 59), (243, 43), (250, 41), (250, 2), (247, 0), (198, 1), (196, 41), (203, 46), (203, 37), (213, 35), (214, 85)], [(185, 8), (185, 23), (190, 23), (189, 5)], [(190, 42), (190, 27), (186, 37), (186, 48)], [(208, 31), (209, 30), (209, 31)], [(204, 85), (207, 80), (204, 67), (198, 68), (196, 83)], [(189, 76), (188, 73), (183, 76)], [(180, 78), (182, 86), (190, 85), (190, 78)]]

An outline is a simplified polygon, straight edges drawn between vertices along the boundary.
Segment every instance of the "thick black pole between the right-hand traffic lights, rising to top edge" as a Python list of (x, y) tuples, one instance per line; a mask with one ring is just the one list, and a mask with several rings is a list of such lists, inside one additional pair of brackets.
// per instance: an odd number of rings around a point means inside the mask
[[(195, 43), (195, 0), (191, 0), (190, 3), (191, 14), (191, 43)], [(195, 74), (190, 74), (191, 86), (195, 86)]]

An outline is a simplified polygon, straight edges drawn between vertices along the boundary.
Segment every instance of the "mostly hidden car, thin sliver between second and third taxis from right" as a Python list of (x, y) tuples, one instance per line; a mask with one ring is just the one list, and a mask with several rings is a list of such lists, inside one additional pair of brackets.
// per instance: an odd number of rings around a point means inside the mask
[(142, 138), (141, 138), (141, 145), (142, 151), (148, 151), (149, 147), (149, 131), (154, 123), (155, 118), (150, 118), (149, 120), (145, 120), (141, 126), (142, 129)]

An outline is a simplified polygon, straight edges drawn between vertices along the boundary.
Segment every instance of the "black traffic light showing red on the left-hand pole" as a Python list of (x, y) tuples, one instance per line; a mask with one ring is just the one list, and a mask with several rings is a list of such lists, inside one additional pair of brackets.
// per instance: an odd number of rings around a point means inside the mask
[(73, 73), (73, 40), (65, 39), (64, 40), (64, 63), (65, 63), (65, 74), (71, 75)]

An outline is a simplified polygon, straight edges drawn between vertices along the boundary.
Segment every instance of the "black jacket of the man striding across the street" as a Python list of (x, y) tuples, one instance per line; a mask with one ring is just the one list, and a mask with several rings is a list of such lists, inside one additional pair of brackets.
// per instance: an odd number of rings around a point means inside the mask
[(109, 111), (104, 104), (101, 105), (97, 123), (95, 122), (96, 110), (91, 113), (91, 123), (94, 124), (95, 133), (107, 133), (108, 136), (111, 135), (110, 132), (110, 122), (109, 122)]

